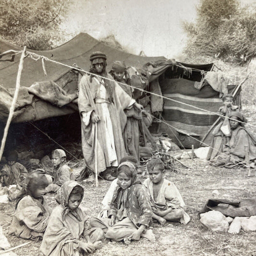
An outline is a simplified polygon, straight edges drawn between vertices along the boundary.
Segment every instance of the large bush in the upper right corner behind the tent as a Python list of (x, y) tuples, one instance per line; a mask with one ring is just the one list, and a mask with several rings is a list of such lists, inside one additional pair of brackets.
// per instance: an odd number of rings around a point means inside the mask
[(184, 52), (240, 64), (256, 56), (256, 11), (237, 0), (201, 0), (195, 23), (183, 23)]

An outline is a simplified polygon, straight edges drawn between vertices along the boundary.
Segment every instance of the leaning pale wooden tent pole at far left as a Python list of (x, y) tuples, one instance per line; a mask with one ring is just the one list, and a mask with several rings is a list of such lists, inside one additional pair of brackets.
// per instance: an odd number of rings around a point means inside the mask
[(10, 112), (9, 112), (9, 116), (4, 128), (4, 133), (3, 133), (3, 138), (2, 138), (2, 142), (1, 142), (1, 147), (0, 147), (0, 160), (2, 159), (2, 155), (3, 155), (3, 150), (4, 150), (4, 146), (5, 146), (5, 142), (6, 142), (6, 138), (7, 138), (7, 134), (8, 134), (8, 130), (10, 127), (10, 124), (12, 122), (12, 116), (13, 116), (13, 112), (15, 109), (15, 104), (18, 98), (18, 94), (19, 94), (19, 89), (20, 89), (20, 83), (21, 83), (21, 73), (23, 70), (23, 62), (24, 62), (24, 58), (25, 58), (25, 51), (26, 51), (26, 46), (23, 49), (23, 52), (21, 54), (21, 59), (20, 59), (20, 63), (19, 63), (19, 69), (18, 69), (18, 74), (17, 74), (17, 79), (16, 79), (16, 87), (15, 87), (15, 92), (13, 95), (13, 99), (12, 99), (12, 105), (10, 108)]

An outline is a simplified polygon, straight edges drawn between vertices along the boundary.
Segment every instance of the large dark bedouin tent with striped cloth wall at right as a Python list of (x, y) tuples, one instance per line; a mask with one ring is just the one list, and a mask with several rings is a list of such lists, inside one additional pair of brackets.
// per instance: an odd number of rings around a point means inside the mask
[[(22, 48), (0, 41), (0, 51), (22, 50)], [(113, 61), (125, 61), (127, 66), (136, 67), (131, 73), (132, 85), (139, 86), (138, 77), (148, 86), (143, 89), (157, 95), (163, 95), (179, 102), (140, 93), (137, 98), (149, 98), (148, 105), (152, 114), (158, 119), (165, 120), (174, 128), (176, 136), (186, 146), (197, 145), (191, 136), (199, 140), (207, 133), (209, 127), (218, 118), (217, 115), (205, 112), (217, 112), (222, 105), (219, 91), (205, 81), (204, 74), (213, 69), (213, 63), (206, 65), (191, 65), (164, 57), (146, 57), (129, 54), (113, 49), (88, 34), (81, 33), (67, 43), (51, 50), (29, 52), (37, 55), (25, 58), (21, 76), (21, 88), (15, 106), (12, 122), (35, 122), (50, 117), (64, 116), (78, 111), (77, 96), (79, 72), (71, 67), (62, 66), (51, 61), (42, 60), (38, 56), (45, 56), (49, 60), (61, 62), (88, 71), (90, 66), (89, 56), (94, 51), (107, 54), (107, 70)], [(10, 110), (12, 96), (15, 90), (16, 75), (20, 60), (17, 54), (12, 61), (4, 61), (10, 57), (0, 58), (0, 122), (6, 122)], [(145, 82), (146, 81), (146, 82)], [(198, 83), (197, 85), (195, 83)], [(142, 83), (143, 84), (143, 83)], [(196, 88), (196, 86), (197, 88)], [(202, 86), (198, 89), (198, 85)], [(228, 86), (232, 91), (233, 86)], [(195, 110), (195, 105), (203, 110)], [(155, 129), (158, 126), (158, 129)], [(165, 123), (153, 123), (152, 131), (164, 131), (173, 137), (173, 131)], [(173, 137), (177, 142), (176, 137)], [(209, 143), (210, 136), (206, 143)]]

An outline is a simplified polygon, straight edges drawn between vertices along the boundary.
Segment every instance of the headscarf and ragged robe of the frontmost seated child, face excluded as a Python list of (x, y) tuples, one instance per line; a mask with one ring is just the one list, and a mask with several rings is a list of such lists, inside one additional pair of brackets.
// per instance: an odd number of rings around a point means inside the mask
[(74, 211), (68, 207), (69, 196), (77, 185), (77, 182), (69, 181), (58, 191), (57, 199), (60, 205), (55, 207), (50, 215), (40, 247), (45, 256), (79, 256), (79, 241), (87, 242), (84, 236), (88, 235), (92, 243), (103, 238), (101, 230), (88, 229), (87, 218), (80, 207)]

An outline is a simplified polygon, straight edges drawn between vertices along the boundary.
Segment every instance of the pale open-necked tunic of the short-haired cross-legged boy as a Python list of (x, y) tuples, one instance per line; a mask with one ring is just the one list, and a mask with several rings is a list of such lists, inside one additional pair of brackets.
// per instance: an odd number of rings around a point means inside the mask
[[(151, 207), (166, 210), (168, 207), (179, 209), (185, 206), (183, 198), (174, 183), (164, 179), (156, 200), (154, 199), (153, 182), (147, 178), (143, 184), (150, 195)], [(180, 221), (187, 224), (190, 221), (189, 215), (184, 212)]]

